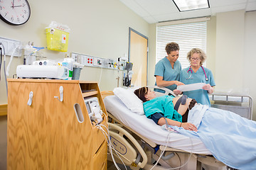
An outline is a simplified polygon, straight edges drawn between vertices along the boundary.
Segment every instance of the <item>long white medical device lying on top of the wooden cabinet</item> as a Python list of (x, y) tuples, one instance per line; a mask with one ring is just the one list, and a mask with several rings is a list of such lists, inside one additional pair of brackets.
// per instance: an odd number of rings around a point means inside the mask
[(17, 77), (20, 78), (46, 78), (68, 79), (67, 67), (57, 65), (18, 65)]

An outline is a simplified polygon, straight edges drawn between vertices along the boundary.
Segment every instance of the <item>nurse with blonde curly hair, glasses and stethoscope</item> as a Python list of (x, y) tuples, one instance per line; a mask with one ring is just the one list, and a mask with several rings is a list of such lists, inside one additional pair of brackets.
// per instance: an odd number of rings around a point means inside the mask
[[(202, 66), (203, 62), (206, 60), (206, 53), (199, 48), (193, 48), (188, 52), (187, 58), (191, 66), (182, 69), (180, 81), (183, 82), (183, 84), (205, 83), (206, 85), (203, 86), (203, 89), (184, 91), (183, 94), (186, 94), (188, 98), (195, 98), (198, 103), (210, 106), (208, 94), (213, 93), (215, 81), (210, 69)], [(181, 91), (178, 91), (178, 93), (181, 94)]]

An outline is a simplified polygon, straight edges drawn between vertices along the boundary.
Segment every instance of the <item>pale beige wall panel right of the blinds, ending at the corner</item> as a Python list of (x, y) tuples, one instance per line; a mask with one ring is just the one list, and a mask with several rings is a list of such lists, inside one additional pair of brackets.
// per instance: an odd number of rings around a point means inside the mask
[(244, 75), (245, 11), (217, 13), (216, 18), (216, 88), (240, 91)]

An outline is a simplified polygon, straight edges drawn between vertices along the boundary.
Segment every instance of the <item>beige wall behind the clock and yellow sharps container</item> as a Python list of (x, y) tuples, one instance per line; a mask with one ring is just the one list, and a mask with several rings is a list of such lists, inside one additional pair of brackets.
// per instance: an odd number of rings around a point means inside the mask
[[(41, 50), (48, 59), (65, 57), (78, 52), (95, 57), (111, 58), (128, 55), (129, 27), (149, 38), (149, 23), (137, 16), (119, 0), (88, 1), (29, 1), (31, 18), (23, 26), (9, 26), (0, 21), (0, 37), (21, 40), (24, 44), (34, 42), (36, 47), (46, 47), (45, 28), (51, 21), (63, 23), (71, 29), (68, 52)], [(6, 59), (9, 62), (9, 57)], [(15, 57), (10, 74), (16, 74), (16, 66), (23, 63), (22, 57)], [(100, 68), (84, 67), (80, 79), (99, 81)], [(120, 72), (120, 77), (122, 73)], [(117, 71), (103, 69), (100, 89), (112, 90), (117, 86)], [(119, 81), (121, 86), (122, 81)], [(0, 104), (6, 104), (4, 72), (1, 72)]]

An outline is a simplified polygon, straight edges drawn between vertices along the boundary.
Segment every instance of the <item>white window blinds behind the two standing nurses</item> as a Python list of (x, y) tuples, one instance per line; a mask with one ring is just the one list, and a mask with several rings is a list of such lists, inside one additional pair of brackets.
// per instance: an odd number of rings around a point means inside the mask
[[(186, 56), (193, 47), (206, 52), (206, 26), (206, 21), (156, 26), (156, 63), (166, 56), (166, 44), (176, 42), (180, 47), (178, 60), (181, 67), (188, 67), (190, 64)], [(203, 63), (204, 67), (205, 65), (206, 62)]]

